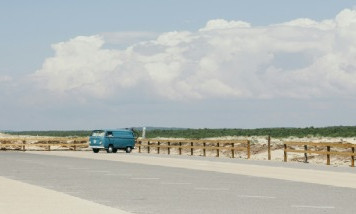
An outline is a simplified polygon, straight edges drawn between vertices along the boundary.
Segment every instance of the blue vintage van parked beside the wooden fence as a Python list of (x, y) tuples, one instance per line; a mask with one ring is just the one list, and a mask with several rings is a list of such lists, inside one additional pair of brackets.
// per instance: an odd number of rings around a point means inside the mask
[(107, 153), (116, 153), (118, 149), (130, 153), (135, 148), (135, 136), (132, 130), (94, 130), (89, 138), (89, 147), (94, 153), (105, 149)]

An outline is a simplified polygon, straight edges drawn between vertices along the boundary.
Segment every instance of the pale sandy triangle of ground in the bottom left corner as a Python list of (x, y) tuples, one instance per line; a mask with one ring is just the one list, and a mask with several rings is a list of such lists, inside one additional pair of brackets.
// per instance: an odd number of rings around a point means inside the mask
[(119, 209), (1, 176), (0, 193), (0, 213), (129, 214)]

